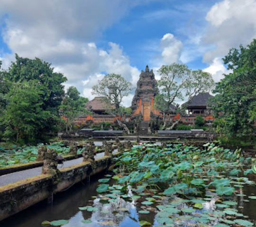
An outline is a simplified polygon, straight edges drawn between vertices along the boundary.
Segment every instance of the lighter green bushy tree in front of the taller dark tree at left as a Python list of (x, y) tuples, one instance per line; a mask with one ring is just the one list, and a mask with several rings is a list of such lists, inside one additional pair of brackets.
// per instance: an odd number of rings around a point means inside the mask
[(18, 82), (13, 84), (7, 95), (8, 105), (3, 114), (6, 130), (4, 137), (9, 140), (18, 139), (23, 142), (36, 140), (42, 124), (51, 113), (42, 111), (44, 91), (35, 81)]

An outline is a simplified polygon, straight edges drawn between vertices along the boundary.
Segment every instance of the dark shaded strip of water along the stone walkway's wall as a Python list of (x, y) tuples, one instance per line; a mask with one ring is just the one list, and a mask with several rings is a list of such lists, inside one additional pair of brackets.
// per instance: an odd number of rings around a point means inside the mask
[[(0, 221), (0, 227), (42, 227), (41, 223), (44, 220), (75, 218), (80, 212), (78, 207), (88, 205), (91, 196), (96, 195), (98, 180), (101, 178), (102, 175), (96, 175), (93, 179), (91, 177), (90, 183), (88, 181), (84, 181), (84, 185), (78, 183), (71, 189), (55, 195), (53, 204), (46, 204), (46, 201), (42, 201)], [(84, 219), (91, 218), (91, 212), (83, 212), (83, 216), (85, 216)]]

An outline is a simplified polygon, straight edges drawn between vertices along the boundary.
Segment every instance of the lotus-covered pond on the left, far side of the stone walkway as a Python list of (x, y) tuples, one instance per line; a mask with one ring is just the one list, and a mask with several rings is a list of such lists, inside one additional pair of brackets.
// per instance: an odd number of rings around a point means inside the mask
[[(38, 146), (18, 147), (17, 145), (12, 145), (11, 149), (0, 146), (0, 167), (35, 162)], [(62, 142), (52, 143), (51, 145), (46, 145), (46, 147), (55, 149), (58, 154), (63, 156), (68, 155), (69, 152), (69, 147), (64, 146)], [(81, 152), (82, 149), (78, 149), (77, 153)]]

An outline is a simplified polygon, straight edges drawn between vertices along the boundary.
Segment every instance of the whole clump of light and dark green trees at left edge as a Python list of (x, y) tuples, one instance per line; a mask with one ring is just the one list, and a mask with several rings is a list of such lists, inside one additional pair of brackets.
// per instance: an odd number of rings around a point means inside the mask
[(57, 130), (66, 78), (38, 58), (15, 57), (9, 70), (0, 72), (0, 78), (10, 84), (6, 111), (0, 119), (6, 128), (4, 137), (24, 142), (46, 140), (49, 132)]

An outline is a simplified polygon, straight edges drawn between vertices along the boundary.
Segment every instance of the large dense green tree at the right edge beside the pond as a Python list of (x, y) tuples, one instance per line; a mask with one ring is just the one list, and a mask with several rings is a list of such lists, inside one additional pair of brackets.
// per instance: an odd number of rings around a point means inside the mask
[(224, 75), (214, 90), (215, 117), (223, 122), (226, 136), (245, 136), (256, 121), (256, 39), (247, 48), (230, 49), (222, 60), (233, 72)]

